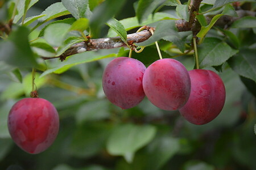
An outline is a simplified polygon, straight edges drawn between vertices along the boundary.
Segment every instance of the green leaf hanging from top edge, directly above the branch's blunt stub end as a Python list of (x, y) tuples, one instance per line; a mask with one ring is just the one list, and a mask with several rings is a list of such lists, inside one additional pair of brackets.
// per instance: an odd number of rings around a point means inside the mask
[(148, 15), (150, 15), (155, 8), (163, 2), (163, 0), (139, 0), (136, 10), (136, 16), (139, 23), (142, 23), (143, 20), (147, 19)]

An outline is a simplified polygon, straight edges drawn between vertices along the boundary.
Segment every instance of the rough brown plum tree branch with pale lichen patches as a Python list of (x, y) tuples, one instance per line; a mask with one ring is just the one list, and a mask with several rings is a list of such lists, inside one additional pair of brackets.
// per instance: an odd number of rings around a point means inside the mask
[[(201, 29), (201, 25), (197, 22), (196, 15), (199, 10), (199, 6), (202, 0), (192, 1), (190, 10), (189, 10), (189, 22), (184, 19), (176, 20), (175, 25), (177, 31), (192, 31), (193, 35), (199, 32)], [(242, 18), (243, 16), (255, 16), (256, 12), (254, 11), (245, 11), (245, 10), (237, 10), (238, 17), (232, 17), (228, 15), (223, 15), (218, 21), (214, 24), (218, 27), (228, 27), (237, 19)], [(205, 16), (207, 22), (209, 23), (212, 20), (213, 16)], [(155, 27), (147, 27), (145, 26), (145, 30), (137, 33), (131, 33), (127, 35), (127, 42), (129, 45), (134, 46), (134, 43), (143, 42), (149, 39), (152, 34), (149, 31), (155, 31)], [(60, 58), (61, 61), (64, 61), (66, 57), (71, 56), (73, 54), (82, 53), (85, 51), (98, 50), (98, 49), (112, 49), (118, 48), (121, 46), (127, 46), (125, 42), (121, 40), (120, 37), (110, 37), (104, 39), (89, 39), (88, 41), (82, 41), (77, 44), (72, 45), (69, 49), (67, 49), (63, 54), (57, 57), (42, 57), (43, 59), (52, 59), (52, 58)]]

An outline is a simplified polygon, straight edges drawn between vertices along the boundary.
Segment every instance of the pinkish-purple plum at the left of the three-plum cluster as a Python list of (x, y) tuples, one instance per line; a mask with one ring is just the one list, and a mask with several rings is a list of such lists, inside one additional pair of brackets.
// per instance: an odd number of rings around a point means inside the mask
[(109, 101), (122, 109), (139, 104), (145, 96), (142, 87), (145, 70), (146, 67), (137, 59), (113, 59), (102, 75), (102, 87)]

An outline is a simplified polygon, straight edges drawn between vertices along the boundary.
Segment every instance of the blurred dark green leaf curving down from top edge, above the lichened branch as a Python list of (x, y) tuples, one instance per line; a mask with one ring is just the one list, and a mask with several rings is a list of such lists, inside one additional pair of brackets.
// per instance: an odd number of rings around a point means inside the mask
[(94, 39), (100, 35), (102, 25), (120, 11), (125, 2), (126, 0), (109, 0), (102, 2), (101, 5), (94, 8), (90, 18), (90, 31)]

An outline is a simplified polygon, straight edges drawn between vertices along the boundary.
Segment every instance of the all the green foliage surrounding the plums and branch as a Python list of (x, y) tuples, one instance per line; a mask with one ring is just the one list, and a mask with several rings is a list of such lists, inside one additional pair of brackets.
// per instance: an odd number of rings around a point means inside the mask
[[(178, 32), (175, 25), (189, 21), (192, 1), (49, 2), (42, 9), (36, 0), (0, 1), (0, 169), (256, 168), (254, 1), (203, 0), (196, 15), (198, 32)], [(254, 16), (240, 17), (241, 11)], [(222, 17), (239, 19), (220, 24)], [(126, 110), (106, 100), (102, 73), (114, 57), (129, 55), (127, 47), (80, 49), (63, 62), (56, 58), (88, 37), (120, 36), (129, 46), (127, 35), (143, 25), (156, 30), (135, 44), (146, 48), (132, 57), (146, 66), (159, 59), (158, 41), (163, 58), (176, 57), (192, 70), (191, 40), (197, 36), (200, 69), (218, 73), (226, 88), (224, 109), (215, 120), (197, 126), (147, 99)], [(15, 146), (7, 129), (11, 106), (29, 96), (32, 67), (39, 96), (51, 101), (60, 116), (56, 141), (39, 155)]]

